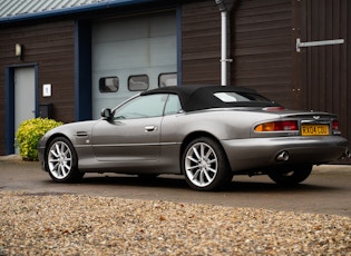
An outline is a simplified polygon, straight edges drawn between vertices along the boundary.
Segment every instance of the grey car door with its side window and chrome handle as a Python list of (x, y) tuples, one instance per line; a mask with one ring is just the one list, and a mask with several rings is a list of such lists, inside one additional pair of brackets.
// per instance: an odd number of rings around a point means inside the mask
[(139, 96), (101, 120), (92, 130), (97, 160), (116, 167), (157, 161), (160, 152), (160, 124), (167, 95)]

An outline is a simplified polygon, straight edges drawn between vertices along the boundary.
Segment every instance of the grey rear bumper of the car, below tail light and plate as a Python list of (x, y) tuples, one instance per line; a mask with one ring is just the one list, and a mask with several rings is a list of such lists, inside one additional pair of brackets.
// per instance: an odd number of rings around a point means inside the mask
[[(221, 141), (233, 171), (295, 164), (326, 164), (345, 156), (348, 140), (340, 136), (250, 138)], [(277, 159), (282, 152), (287, 159)]]

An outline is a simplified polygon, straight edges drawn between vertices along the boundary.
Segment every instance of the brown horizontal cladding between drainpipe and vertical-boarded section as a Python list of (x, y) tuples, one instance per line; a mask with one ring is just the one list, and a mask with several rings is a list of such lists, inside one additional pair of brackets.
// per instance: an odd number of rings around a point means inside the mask
[(291, 108), (291, 0), (242, 0), (231, 17), (232, 83)]

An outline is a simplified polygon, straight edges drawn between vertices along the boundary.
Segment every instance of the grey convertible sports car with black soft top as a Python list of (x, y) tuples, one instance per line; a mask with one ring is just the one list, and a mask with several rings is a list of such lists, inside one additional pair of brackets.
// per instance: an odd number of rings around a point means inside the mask
[(144, 91), (101, 119), (67, 124), (38, 144), (51, 178), (85, 173), (184, 175), (193, 189), (223, 189), (234, 175), (294, 185), (313, 165), (349, 157), (338, 117), (293, 111), (243, 87), (176, 86)]

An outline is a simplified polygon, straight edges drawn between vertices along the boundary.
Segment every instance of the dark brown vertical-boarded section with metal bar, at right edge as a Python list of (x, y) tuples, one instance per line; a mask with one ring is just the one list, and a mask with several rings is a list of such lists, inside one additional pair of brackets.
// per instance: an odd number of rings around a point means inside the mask
[(296, 55), (301, 61), (301, 107), (338, 114), (341, 131), (351, 141), (351, 1), (301, 0), (296, 18), (301, 41), (345, 41), (303, 48)]

